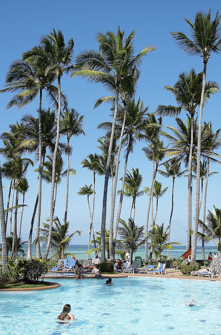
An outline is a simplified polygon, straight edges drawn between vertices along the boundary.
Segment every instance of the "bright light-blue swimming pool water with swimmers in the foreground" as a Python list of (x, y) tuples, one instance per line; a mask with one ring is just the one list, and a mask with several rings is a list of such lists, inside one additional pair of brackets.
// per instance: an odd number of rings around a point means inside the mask
[[(0, 334), (218, 335), (221, 282), (166, 278), (55, 280), (55, 290), (0, 293)], [(198, 306), (182, 304), (194, 298)], [(55, 318), (69, 303), (76, 321)]]

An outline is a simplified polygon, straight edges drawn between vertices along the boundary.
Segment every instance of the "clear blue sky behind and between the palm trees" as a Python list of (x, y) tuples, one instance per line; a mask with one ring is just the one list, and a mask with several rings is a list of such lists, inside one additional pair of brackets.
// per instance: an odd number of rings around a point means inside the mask
[[(191, 58), (177, 47), (172, 40), (170, 31), (184, 31), (188, 34), (187, 23), (183, 17), (194, 21), (196, 11), (208, 11), (212, 9), (214, 17), (219, 8), (217, 1), (7, 1), (1, 3), (2, 19), (0, 22), (2, 52), (0, 62), (0, 83), (4, 86), (5, 74), (9, 65), (15, 59), (21, 57), (26, 50), (37, 45), (41, 35), (48, 34), (53, 28), (61, 29), (66, 42), (72, 37), (75, 46), (74, 51), (77, 55), (82, 50), (96, 49), (95, 34), (97, 31), (105, 32), (107, 30), (116, 30), (120, 24), (121, 30), (124, 29), (125, 36), (128, 36), (131, 30), (136, 30), (134, 46), (137, 53), (146, 45), (155, 45), (157, 50), (149, 53), (143, 60), (141, 66), (141, 77), (139, 79), (136, 100), (140, 97), (145, 106), (149, 106), (149, 112), (154, 112), (158, 104), (175, 104), (173, 95), (164, 90), (164, 85), (173, 85), (178, 74), (183, 71), (189, 71), (192, 67), (197, 72), (202, 71), (203, 62), (201, 58)], [(215, 80), (221, 85), (221, 56), (212, 55), (207, 66), (207, 80)], [(62, 77), (62, 90), (68, 96), (69, 107), (75, 108), (81, 115), (84, 115), (84, 131), (86, 136), (71, 139), (73, 154), (70, 158), (70, 165), (77, 170), (77, 175), (70, 176), (70, 193), (68, 219), (70, 221), (71, 231), (81, 229), (83, 235), (81, 238), (75, 238), (73, 244), (87, 244), (89, 213), (87, 207), (87, 198), (80, 197), (76, 193), (79, 187), (84, 184), (93, 183), (93, 176), (86, 169), (82, 169), (81, 161), (90, 153), (98, 152), (97, 139), (103, 136), (102, 130), (96, 129), (101, 122), (110, 120), (109, 106), (103, 105), (98, 109), (93, 109), (95, 101), (109, 93), (101, 84), (89, 84), (82, 78), (69, 78), (67, 75)], [(6, 110), (7, 103), (11, 99), (11, 93), (4, 93), (1, 98), (1, 123), (0, 132), (8, 129), (9, 124), (20, 121), (24, 114), (37, 116), (38, 98), (18, 111), (12, 107)], [(43, 108), (48, 108), (48, 102), (43, 96)], [(186, 120), (183, 113), (181, 117)], [(203, 121), (212, 121), (214, 130), (220, 127), (220, 91), (205, 106)], [(175, 125), (174, 120), (170, 118), (163, 119), (163, 126)], [(145, 144), (137, 143), (134, 153), (129, 156), (128, 170), (131, 167), (138, 167), (143, 176), (142, 187), (150, 185), (151, 181), (151, 163), (147, 161), (141, 150)], [(64, 157), (66, 159), (66, 157)], [(123, 170), (123, 152), (121, 154), (121, 165), (119, 177)], [(1, 157), (1, 163), (3, 163)], [(37, 167), (35, 165), (35, 167)], [(210, 171), (221, 173), (218, 164), (211, 164)], [(24, 208), (22, 239), (27, 240), (29, 233), (29, 224), (32, 216), (33, 206), (37, 193), (37, 174), (30, 167), (27, 178), (29, 181), (29, 191), (25, 203), (28, 207)], [(163, 179), (157, 175), (156, 180), (161, 181), (163, 187), (169, 187), (167, 193), (159, 200), (159, 209), (156, 223), (164, 222), (168, 224), (171, 210), (171, 189), (172, 181)], [(97, 177), (96, 182), (96, 203), (94, 213), (94, 228), (100, 230), (102, 199), (103, 199), (103, 177)], [(211, 177), (208, 185), (207, 208), (212, 210), (212, 206), (220, 207), (220, 176)], [(118, 183), (117, 189), (120, 189)], [(9, 183), (3, 180), (4, 200), (8, 197)], [(49, 215), (50, 208), (50, 185), (43, 184), (42, 187), (42, 212), (41, 222)], [(62, 220), (65, 210), (66, 182), (65, 179), (58, 186), (58, 197), (55, 215)], [(193, 199), (195, 198), (195, 186), (193, 187)], [(91, 199), (92, 200), (92, 199)], [(118, 207), (119, 198), (116, 199)], [(135, 223), (145, 225), (147, 196), (137, 199)], [(109, 223), (109, 203), (107, 201), (107, 226)], [(124, 199), (121, 218), (127, 220), (131, 206), (130, 199)], [(193, 203), (194, 212), (194, 203)], [(20, 213), (19, 213), (20, 215)], [(18, 217), (18, 221), (20, 218)], [(186, 225), (187, 225), (187, 178), (176, 180), (175, 182), (175, 200), (174, 214), (171, 227), (171, 240), (180, 241), (186, 244)], [(35, 228), (35, 227), (34, 227)], [(35, 230), (33, 232), (33, 236)]]

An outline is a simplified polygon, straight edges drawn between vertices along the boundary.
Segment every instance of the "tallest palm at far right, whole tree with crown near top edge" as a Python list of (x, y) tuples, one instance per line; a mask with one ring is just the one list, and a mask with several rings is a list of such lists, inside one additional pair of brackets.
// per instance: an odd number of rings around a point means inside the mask
[(199, 221), (199, 201), (200, 201), (200, 152), (201, 152), (201, 131), (202, 131), (202, 116), (205, 94), (206, 69), (207, 62), (211, 53), (219, 54), (221, 52), (221, 27), (220, 16), (217, 11), (215, 19), (211, 20), (211, 10), (206, 14), (199, 11), (195, 15), (195, 22), (192, 23), (189, 19), (185, 19), (191, 29), (191, 38), (188, 38), (183, 32), (171, 32), (172, 37), (177, 41), (181, 50), (185, 51), (190, 56), (200, 56), (203, 58), (203, 85), (200, 101), (199, 114), (199, 131), (197, 143), (197, 177), (196, 177), (196, 205), (195, 205), (195, 222), (193, 233), (193, 245), (191, 252), (191, 265), (196, 261), (197, 248), (197, 232)]

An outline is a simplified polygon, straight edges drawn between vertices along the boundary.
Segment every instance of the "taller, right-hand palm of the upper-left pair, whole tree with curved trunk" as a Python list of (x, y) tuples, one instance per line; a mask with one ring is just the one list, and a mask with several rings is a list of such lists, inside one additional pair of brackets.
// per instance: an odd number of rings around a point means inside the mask
[(32, 50), (25, 53), (25, 57), (26, 58), (36, 57), (37, 59), (43, 59), (43, 61), (47, 64), (47, 71), (54, 74), (55, 78), (57, 78), (58, 80), (57, 136), (53, 154), (49, 233), (48, 233), (47, 245), (44, 252), (44, 259), (46, 259), (50, 248), (50, 239), (51, 239), (52, 223), (53, 223), (55, 164), (56, 164), (56, 155), (60, 136), (60, 117), (62, 108), (61, 77), (63, 76), (64, 73), (70, 71), (70, 68), (72, 67), (74, 41), (73, 39), (70, 39), (66, 45), (62, 31), (58, 30), (58, 32), (56, 32), (53, 29), (53, 31), (50, 32), (49, 35), (41, 37), (40, 44), (42, 48), (41, 55), (39, 55), (38, 48), (34, 47)]

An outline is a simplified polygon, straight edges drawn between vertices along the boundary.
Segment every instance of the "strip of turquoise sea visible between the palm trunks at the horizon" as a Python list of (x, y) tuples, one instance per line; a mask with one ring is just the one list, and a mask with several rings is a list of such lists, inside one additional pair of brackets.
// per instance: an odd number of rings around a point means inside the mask
[[(27, 253), (27, 250), (28, 250), (27, 245), (25, 245), (23, 249), (24, 249), (24, 252)], [(42, 246), (42, 248), (41, 248), (42, 256), (44, 254), (44, 250), (45, 250), (45, 246)], [(66, 251), (74, 254), (75, 257), (78, 258), (78, 259), (88, 259), (88, 255), (86, 255), (86, 252), (88, 251), (88, 246), (70, 245), (67, 248)], [(169, 256), (170, 257), (181, 257), (181, 255), (184, 254), (185, 251), (186, 251), (186, 247), (174, 247), (174, 249), (170, 250)], [(217, 252), (215, 247), (206, 246), (205, 247), (206, 258), (207, 258), (207, 255), (210, 253), (210, 251), (212, 253)], [(36, 256), (36, 247), (35, 246), (32, 246), (31, 254), (32, 254), (32, 257)], [(50, 253), (49, 253), (49, 255), (50, 255)], [(167, 255), (167, 250), (164, 250), (163, 255)], [(134, 254), (134, 257), (135, 256), (141, 256), (141, 257), (145, 258), (145, 248), (144, 247), (140, 248)], [(116, 255), (116, 257), (118, 257), (118, 256)], [(214, 257), (214, 254), (213, 254), (213, 257)], [(91, 258), (95, 258), (95, 253), (91, 253)], [(197, 247), (196, 259), (202, 259), (202, 248), (201, 247)]]

